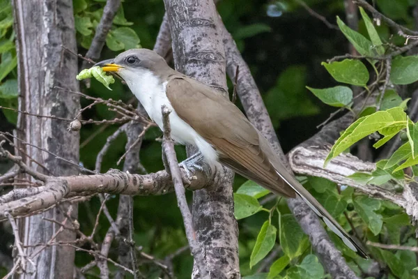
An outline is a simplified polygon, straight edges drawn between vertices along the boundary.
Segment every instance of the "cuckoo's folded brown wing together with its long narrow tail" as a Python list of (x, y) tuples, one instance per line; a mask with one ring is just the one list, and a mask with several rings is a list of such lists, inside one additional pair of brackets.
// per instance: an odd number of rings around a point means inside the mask
[(273, 193), (286, 197), (299, 195), (350, 249), (367, 258), (362, 246), (287, 172), (265, 137), (238, 107), (217, 91), (188, 77), (171, 78), (167, 97), (178, 116), (215, 147), (221, 163)]

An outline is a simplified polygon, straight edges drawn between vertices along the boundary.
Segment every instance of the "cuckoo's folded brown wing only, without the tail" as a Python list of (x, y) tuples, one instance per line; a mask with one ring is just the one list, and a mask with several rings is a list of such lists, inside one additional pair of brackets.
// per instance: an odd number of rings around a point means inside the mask
[(178, 116), (219, 152), (220, 163), (273, 193), (295, 197), (295, 190), (281, 179), (261, 149), (258, 130), (233, 103), (187, 77), (171, 80), (167, 97)]

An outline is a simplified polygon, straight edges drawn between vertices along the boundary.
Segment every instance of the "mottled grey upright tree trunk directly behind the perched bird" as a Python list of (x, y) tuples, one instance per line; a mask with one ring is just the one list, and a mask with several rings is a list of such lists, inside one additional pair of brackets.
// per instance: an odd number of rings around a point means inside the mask
[[(176, 70), (226, 94), (222, 29), (212, 0), (164, 1)], [(194, 191), (196, 239), (211, 278), (239, 278), (238, 225), (233, 216), (233, 173), (221, 169), (212, 185)], [(199, 278), (196, 266), (194, 278)]]

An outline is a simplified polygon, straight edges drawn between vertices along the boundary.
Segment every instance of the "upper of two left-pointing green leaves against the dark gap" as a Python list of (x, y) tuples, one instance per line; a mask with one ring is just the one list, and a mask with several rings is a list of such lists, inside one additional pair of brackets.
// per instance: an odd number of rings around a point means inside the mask
[(357, 59), (344, 59), (343, 61), (334, 61), (331, 63), (321, 63), (325, 66), (328, 73), (334, 77), (337, 82), (353, 84), (357, 86), (366, 86), (369, 82), (369, 70), (362, 61)]

